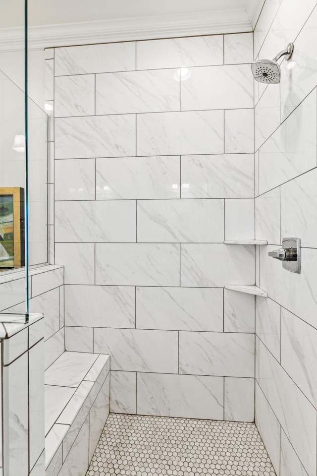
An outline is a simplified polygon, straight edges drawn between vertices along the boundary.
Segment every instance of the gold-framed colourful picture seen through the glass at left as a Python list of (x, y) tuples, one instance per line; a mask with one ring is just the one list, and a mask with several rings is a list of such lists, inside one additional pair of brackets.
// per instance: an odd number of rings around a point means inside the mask
[(24, 255), (24, 188), (0, 187), (0, 269), (24, 266)]

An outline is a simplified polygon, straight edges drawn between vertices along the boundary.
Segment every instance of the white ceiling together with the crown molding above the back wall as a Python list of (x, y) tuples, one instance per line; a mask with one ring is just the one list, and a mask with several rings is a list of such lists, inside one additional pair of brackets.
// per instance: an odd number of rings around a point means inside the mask
[[(264, 0), (28, 0), (29, 47), (252, 31)], [(24, 0), (0, 0), (0, 50), (23, 47)]]

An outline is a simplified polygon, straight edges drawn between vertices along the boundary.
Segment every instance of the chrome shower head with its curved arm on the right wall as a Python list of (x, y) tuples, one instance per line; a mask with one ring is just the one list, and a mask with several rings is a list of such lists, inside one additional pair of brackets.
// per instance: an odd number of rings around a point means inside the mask
[(292, 56), (293, 49), (293, 43), (289, 43), (286, 50), (279, 52), (273, 60), (254, 61), (251, 64), (254, 79), (259, 81), (259, 83), (278, 84), (281, 79), (281, 69), (277, 60), (283, 55), (285, 55), (285, 60), (289, 60)]

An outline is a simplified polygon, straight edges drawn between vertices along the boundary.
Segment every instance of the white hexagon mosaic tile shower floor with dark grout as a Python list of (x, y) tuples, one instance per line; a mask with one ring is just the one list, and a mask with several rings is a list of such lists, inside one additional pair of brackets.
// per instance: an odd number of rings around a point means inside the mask
[(110, 414), (87, 476), (275, 476), (254, 423)]

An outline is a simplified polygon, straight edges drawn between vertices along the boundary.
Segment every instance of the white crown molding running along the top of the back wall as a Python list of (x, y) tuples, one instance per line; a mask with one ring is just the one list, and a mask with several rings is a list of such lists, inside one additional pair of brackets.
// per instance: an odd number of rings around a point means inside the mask
[[(257, 2), (261, 0), (256, 0)], [(245, 9), (29, 27), (28, 48), (175, 38), (252, 31)], [(0, 29), (0, 51), (22, 50), (23, 28)]]

